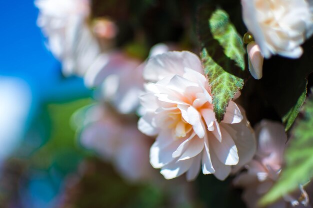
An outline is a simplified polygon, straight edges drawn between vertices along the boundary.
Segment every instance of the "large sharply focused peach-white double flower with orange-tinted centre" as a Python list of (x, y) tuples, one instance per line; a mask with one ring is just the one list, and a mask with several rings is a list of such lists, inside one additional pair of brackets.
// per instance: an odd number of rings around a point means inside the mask
[(200, 171), (224, 180), (232, 167), (247, 163), (255, 139), (243, 110), (229, 101), (224, 119), (215, 119), (212, 98), (199, 58), (187, 51), (151, 57), (145, 68), (146, 93), (140, 96), (143, 115), (138, 129), (157, 135), (150, 163), (166, 179)]

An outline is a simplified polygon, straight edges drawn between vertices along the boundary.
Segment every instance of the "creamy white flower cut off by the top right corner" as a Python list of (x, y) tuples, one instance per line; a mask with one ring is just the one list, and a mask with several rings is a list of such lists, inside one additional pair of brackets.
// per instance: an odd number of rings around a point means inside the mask
[(279, 54), (298, 58), (300, 45), (313, 32), (306, 0), (241, 0), (243, 21), (265, 58)]

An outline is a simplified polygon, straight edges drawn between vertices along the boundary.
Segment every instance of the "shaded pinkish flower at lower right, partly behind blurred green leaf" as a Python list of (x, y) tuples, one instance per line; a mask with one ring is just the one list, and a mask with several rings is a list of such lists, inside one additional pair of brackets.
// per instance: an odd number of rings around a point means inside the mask
[[(258, 200), (278, 180), (283, 164), (283, 152), (287, 136), (284, 127), (278, 122), (262, 120), (256, 127), (258, 147), (254, 159), (247, 165), (247, 172), (234, 179), (234, 185), (244, 188), (242, 198), (248, 208), (256, 208)], [(296, 200), (302, 195), (303, 200)], [(289, 208), (307, 206), (308, 198), (300, 187), (299, 191), (285, 195), (283, 199), (268, 208)]]

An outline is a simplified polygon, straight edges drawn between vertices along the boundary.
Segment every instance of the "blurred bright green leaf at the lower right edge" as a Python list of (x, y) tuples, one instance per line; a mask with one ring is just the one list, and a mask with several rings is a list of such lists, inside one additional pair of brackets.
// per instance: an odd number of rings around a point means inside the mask
[(313, 96), (307, 98), (302, 114), (291, 130), (290, 144), (284, 154), (286, 165), (280, 180), (261, 199), (262, 205), (292, 192), (313, 176)]

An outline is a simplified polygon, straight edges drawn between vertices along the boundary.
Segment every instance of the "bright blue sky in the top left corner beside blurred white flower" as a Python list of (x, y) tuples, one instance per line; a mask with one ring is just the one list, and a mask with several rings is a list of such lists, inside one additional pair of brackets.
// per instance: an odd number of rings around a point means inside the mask
[(60, 64), (44, 46), (33, 0), (0, 0), (0, 75), (26, 80), (35, 97), (64, 102), (88, 95), (82, 80), (62, 78)]

